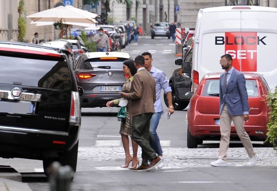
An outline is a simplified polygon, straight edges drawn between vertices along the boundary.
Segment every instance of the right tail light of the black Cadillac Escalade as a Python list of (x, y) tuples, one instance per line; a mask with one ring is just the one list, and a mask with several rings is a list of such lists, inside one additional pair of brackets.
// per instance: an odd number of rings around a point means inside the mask
[(81, 118), (79, 92), (71, 92), (71, 109), (69, 122), (78, 124)]

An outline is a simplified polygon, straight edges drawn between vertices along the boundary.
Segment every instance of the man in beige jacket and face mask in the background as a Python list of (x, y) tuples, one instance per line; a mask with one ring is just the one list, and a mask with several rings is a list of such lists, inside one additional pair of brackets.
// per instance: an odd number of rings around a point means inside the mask
[(98, 30), (98, 34), (94, 35), (93, 41), (96, 42), (97, 52), (107, 52), (107, 50), (111, 51), (110, 41), (108, 35), (103, 33), (103, 29), (100, 28)]

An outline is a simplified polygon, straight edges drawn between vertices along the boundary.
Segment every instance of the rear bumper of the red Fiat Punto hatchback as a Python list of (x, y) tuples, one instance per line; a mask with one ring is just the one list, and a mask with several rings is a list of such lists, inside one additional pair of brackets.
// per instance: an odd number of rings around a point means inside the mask
[[(216, 125), (216, 119), (220, 116), (216, 114), (201, 114), (198, 110), (188, 111), (188, 127), (190, 133), (195, 138), (214, 137), (220, 138), (220, 125)], [(250, 115), (244, 129), (251, 138), (265, 140), (267, 138), (267, 112), (263, 111), (259, 115)], [(199, 130), (207, 130), (210, 133), (198, 133)], [(249, 133), (250, 131), (261, 131), (263, 134)], [(231, 126), (231, 137), (238, 137), (235, 126)]]

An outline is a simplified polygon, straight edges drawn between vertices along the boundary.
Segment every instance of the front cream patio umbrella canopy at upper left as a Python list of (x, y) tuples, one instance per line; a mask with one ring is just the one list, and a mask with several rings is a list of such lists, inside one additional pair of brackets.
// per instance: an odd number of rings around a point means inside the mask
[(71, 5), (59, 6), (27, 16), (36, 22), (82, 22), (95, 24), (97, 14), (90, 13)]

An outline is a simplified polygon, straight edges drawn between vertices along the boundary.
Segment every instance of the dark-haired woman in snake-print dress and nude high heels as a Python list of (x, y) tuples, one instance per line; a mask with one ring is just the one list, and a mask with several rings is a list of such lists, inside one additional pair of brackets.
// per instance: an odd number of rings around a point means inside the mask
[[(125, 60), (123, 62), (123, 74), (125, 76), (128, 76), (128, 78), (126, 78), (126, 82), (122, 86), (122, 92), (126, 92), (126, 93), (131, 92), (131, 84), (135, 73), (136, 73), (136, 68), (134, 66), (134, 61)], [(106, 106), (111, 107), (112, 105), (117, 105), (121, 99), (115, 99), (113, 101), (109, 101), (106, 104)], [(128, 114), (128, 111), (126, 111), (126, 120), (124, 122), (121, 121), (121, 126), (119, 131), (119, 133), (121, 134), (122, 144), (126, 155), (125, 164), (122, 165), (121, 167), (127, 168), (130, 162), (132, 161), (132, 167), (130, 169), (135, 169), (136, 166), (139, 164), (139, 159), (137, 158), (138, 144), (132, 140), (132, 146), (133, 146), (133, 157), (132, 157), (129, 151), (129, 137), (128, 137), (131, 135), (131, 128), (132, 128), (132, 117), (130, 117)]]

